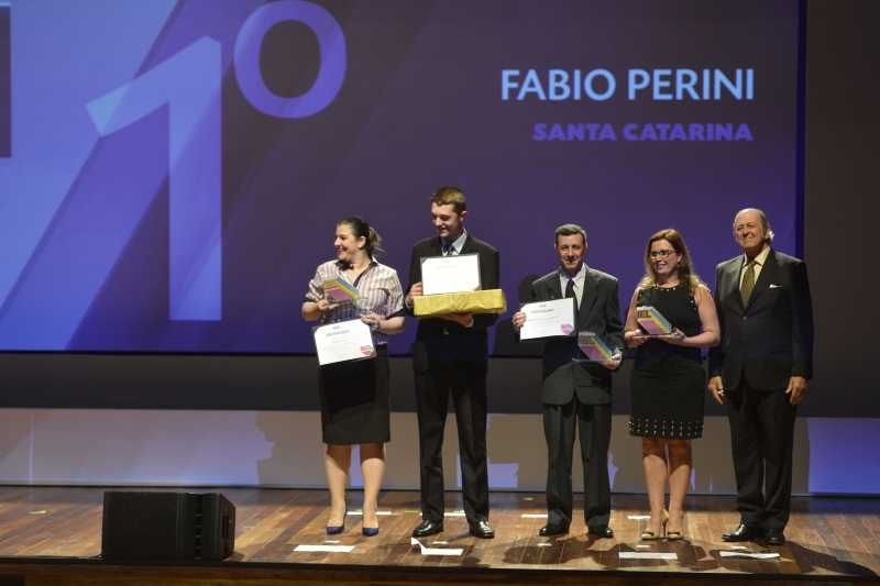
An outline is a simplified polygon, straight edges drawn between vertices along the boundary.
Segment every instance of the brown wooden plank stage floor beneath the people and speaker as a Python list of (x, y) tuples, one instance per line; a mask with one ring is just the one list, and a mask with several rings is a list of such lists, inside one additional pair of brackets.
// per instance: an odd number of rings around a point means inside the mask
[[(154, 488), (150, 488), (153, 490)], [(736, 584), (858, 583), (880, 575), (880, 498), (793, 499), (788, 543), (762, 540), (725, 543), (722, 533), (738, 523), (733, 497), (688, 498), (683, 541), (640, 541), (648, 515), (644, 495), (614, 495), (615, 538), (597, 540), (583, 519), (558, 538), (541, 538), (542, 494), (493, 493), (490, 522), (497, 537), (468, 532), (461, 494), (447, 494), (446, 530), (422, 539), (429, 548), (463, 549), (461, 555), (422, 555), (411, 544), (420, 522), (417, 491), (381, 496), (380, 534), (361, 533), (360, 516), (349, 515), (341, 535), (327, 535), (326, 490), (257, 488), (220, 491), (237, 507), (235, 552), (223, 562), (120, 563), (101, 553), (103, 488), (0, 487), (0, 586), (7, 584), (302, 584), (485, 583)], [(180, 488), (169, 490), (182, 490)], [(361, 493), (349, 493), (358, 511)], [(575, 496), (575, 500), (580, 495)], [(578, 502), (575, 501), (578, 509)], [(581, 510), (581, 509), (578, 509)], [(458, 515), (457, 515), (458, 512)], [(351, 545), (350, 553), (301, 552), (299, 545)], [(624, 552), (674, 553), (675, 559), (622, 559)], [(725, 557), (722, 552), (778, 553), (778, 559)], [(650, 579), (649, 579), (650, 578)], [(738, 579), (737, 579), (738, 578)], [(645, 581), (645, 582), (642, 582)], [(672, 581), (672, 582), (670, 582)]]

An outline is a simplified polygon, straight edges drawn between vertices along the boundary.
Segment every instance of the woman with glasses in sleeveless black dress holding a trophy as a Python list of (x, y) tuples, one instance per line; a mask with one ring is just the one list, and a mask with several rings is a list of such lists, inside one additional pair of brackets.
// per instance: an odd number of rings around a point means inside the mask
[[(667, 538), (682, 539), (691, 440), (703, 435), (706, 373), (700, 349), (717, 345), (721, 329), (712, 294), (693, 273), (688, 246), (678, 231), (661, 230), (651, 236), (645, 266), (646, 275), (632, 295), (624, 332), (627, 345), (638, 347), (629, 383), (629, 434), (641, 436), (641, 463), (651, 506), (641, 539), (658, 539), (667, 521)], [(648, 336), (637, 320), (636, 308), (641, 306), (657, 309), (673, 332)], [(667, 480), (669, 513), (664, 507)]]

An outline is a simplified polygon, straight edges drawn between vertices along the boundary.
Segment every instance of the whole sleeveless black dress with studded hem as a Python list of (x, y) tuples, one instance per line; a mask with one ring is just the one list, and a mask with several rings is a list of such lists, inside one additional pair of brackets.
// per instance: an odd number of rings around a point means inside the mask
[[(642, 289), (639, 306), (652, 306), (691, 338), (700, 333), (693, 292), (681, 287)], [(629, 380), (629, 434), (667, 440), (703, 435), (706, 371), (697, 347), (649, 340), (638, 347)]]

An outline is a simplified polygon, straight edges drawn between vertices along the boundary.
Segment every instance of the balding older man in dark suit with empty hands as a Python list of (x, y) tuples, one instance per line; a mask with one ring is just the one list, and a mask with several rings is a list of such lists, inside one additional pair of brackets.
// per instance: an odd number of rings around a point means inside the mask
[[(710, 350), (710, 390), (727, 398), (739, 527), (724, 541), (785, 543), (798, 403), (813, 376), (813, 303), (806, 265), (770, 247), (761, 210), (734, 220), (744, 255), (718, 265), (722, 342)], [(766, 496), (761, 489), (766, 484)]]

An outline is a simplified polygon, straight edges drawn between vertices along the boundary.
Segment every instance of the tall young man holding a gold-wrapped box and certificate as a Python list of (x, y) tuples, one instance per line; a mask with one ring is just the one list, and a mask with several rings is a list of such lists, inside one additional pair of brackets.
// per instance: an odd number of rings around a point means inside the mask
[[(422, 295), (421, 258), (459, 254), (480, 255), (483, 290), (497, 289), (498, 251), (470, 235), (462, 222), (468, 215), (464, 195), (442, 187), (431, 196), (437, 235), (416, 243), (406, 289), (407, 312), (413, 298)], [(450, 394), (455, 408), (461, 457), (464, 515), (471, 533), (491, 539), (488, 524), (488, 466), (486, 462), (486, 368), (488, 332), (497, 314), (448, 313), (419, 320), (413, 353), (416, 409), (419, 421), (422, 522), (413, 534), (426, 537), (443, 530), (443, 430)]]

